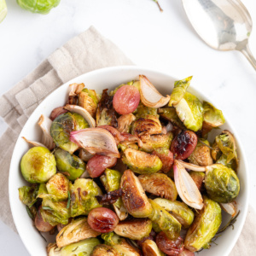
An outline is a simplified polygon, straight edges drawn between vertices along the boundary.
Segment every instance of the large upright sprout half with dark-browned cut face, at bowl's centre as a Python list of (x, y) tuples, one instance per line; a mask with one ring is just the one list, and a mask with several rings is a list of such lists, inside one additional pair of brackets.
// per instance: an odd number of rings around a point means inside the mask
[(152, 212), (151, 204), (143, 187), (131, 170), (126, 170), (121, 178), (122, 200), (127, 212), (135, 218), (146, 218)]

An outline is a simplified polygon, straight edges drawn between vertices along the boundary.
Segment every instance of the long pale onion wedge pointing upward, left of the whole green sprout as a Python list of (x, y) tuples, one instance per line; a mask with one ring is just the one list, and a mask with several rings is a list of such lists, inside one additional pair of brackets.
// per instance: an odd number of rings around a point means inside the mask
[(177, 193), (183, 202), (189, 207), (201, 210), (204, 205), (201, 193), (192, 177), (177, 160), (174, 160), (173, 172)]

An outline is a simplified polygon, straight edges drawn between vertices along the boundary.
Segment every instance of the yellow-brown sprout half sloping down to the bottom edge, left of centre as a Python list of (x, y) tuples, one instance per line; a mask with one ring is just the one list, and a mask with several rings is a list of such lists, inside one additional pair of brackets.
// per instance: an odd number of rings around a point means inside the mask
[(105, 241), (105, 244), (113, 247), (121, 256), (140, 256), (140, 253), (125, 241), (125, 238), (122, 238), (113, 232), (102, 234), (102, 239)]

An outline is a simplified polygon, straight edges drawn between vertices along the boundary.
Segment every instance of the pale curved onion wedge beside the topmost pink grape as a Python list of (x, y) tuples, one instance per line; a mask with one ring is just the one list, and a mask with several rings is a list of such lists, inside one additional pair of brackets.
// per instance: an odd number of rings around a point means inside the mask
[(140, 75), (140, 94), (141, 101), (146, 107), (161, 108), (170, 101), (170, 96), (162, 96), (147, 77)]

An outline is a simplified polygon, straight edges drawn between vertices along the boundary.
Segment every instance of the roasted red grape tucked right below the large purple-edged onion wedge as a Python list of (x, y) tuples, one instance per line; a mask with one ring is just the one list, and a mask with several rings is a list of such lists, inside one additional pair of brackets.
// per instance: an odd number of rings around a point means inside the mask
[(99, 177), (107, 168), (113, 167), (115, 164), (115, 157), (96, 154), (88, 161), (86, 170), (90, 177)]

